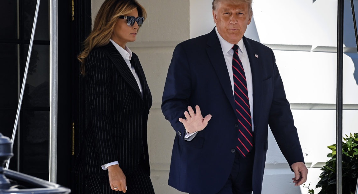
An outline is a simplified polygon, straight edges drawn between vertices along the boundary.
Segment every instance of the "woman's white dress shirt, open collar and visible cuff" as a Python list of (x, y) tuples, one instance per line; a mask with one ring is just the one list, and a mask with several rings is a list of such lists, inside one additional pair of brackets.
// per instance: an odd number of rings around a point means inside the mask
[[(125, 46), (125, 49), (123, 49), (121, 46), (119, 46), (112, 39), (110, 39), (110, 41), (117, 48), (117, 50), (121, 54), (121, 56), (124, 58), (124, 61), (127, 63), (129, 70), (133, 73), (133, 76), (134, 76), (135, 80), (137, 81), (140, 93), (143, 96), (142, 85), (140, 84), (139, 77), (138, 77), (137, 73), (135, 72), (134, 67), (131, 65), (131, 62), (130, 62), (130, 60), (132, 58), (132, 51), (127, 46)], [(102, 165), (102, 169), (106, 170), (109, 166), (115, 165), (115, 164), (119, 164), (118, 161), (110, 162), (108, 164), (104, 164), (104, 165)]]

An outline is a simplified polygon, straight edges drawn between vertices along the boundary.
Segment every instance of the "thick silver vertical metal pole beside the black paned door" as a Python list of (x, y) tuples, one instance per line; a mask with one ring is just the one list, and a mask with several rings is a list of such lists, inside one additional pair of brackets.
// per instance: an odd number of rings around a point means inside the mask
[(50, 1), (50, 149), (49, 181), (57, 181), (57, 0)]

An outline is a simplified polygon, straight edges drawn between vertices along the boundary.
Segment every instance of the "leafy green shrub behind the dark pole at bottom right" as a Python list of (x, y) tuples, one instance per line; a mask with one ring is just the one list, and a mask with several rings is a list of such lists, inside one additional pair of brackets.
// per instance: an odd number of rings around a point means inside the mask
[[(355, 186), (357, 184), (358, 175), (358, 133), (350, 134), (347, 138), (343, 138), (342, 142), (342, 192), (344, 194), (354, 194)], [(321, 187), (321, 191), (318, 194), (335, 194), (335, 171), (336, 171), (336, 144), (328, 146), (332, 150), (332, 153), (327, 155), (331, 158), (326, 162), (326, 165), (321, 168), (323, 172), (319, 176), (319, 180), (316, 188)]]

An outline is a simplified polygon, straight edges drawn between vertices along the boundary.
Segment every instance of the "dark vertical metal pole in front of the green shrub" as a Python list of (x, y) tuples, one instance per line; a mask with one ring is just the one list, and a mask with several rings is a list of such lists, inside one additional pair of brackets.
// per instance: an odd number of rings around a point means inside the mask
[(342, 194), (342, 111), (343, 111), (343, 11), (344, 0), (338, 0), (337, 25), (337, 119), (336, 119), (336, 194)]

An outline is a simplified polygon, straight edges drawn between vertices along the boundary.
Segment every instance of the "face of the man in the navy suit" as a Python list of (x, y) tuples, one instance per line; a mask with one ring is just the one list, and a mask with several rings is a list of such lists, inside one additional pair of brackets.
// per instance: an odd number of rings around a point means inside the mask
[(234, 5), (221, 1), (213, 10), (214, 22), (219, 34), (231, 44), (237, 44), (251, 22), (251, 9), (248, 4)]

